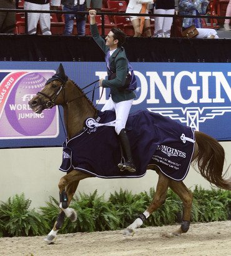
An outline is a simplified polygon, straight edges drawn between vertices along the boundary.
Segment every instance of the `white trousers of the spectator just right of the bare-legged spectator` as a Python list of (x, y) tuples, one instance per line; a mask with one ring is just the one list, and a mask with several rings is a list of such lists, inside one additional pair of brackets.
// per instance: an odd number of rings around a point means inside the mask
[[(174, 14), (175, 9), (154, 9), (155, 14)], [(155, 17), (154, 36), (170, 38), (172, 17)]]

